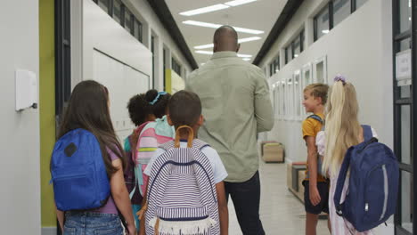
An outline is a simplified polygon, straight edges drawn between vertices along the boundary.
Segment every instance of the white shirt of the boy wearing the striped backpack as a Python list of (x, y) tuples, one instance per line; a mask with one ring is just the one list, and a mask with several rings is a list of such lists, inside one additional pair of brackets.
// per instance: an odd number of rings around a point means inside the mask
[[(186, 148), (187, 143), (180, 142), (180, 147)], [(214, 182), (218, 183), (225, 180), (225, 177), (227, 177), (227, 172), (225, 170), (225, 166), (223, 165), (222, 160), (220, 159), (220, 156), (218, 156), (217, 150), (211, 148), (210, 146), (207, 146), (202, 148), (201, 152), (204, 155), (206, 155), (208, 161), (210, 162), (210, 165), (213, 169)], [(158, 158), (163, 153), (165, 153), (164, 149), (158, 148), (158, 150), (156, 150), (155, 155), (151, 158), (151, 160), (148, 163), (148, 166), (146, 166), (145, 170), (143, 171), (144, 174), (148, 176), (151, 175), (153, 162), (155, 162), (156, 158)]]

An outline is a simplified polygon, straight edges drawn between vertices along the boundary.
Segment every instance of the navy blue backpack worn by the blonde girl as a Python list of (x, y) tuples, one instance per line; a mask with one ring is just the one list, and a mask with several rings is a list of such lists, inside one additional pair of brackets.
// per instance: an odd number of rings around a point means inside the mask
[[(347, 150), (334, 194), (336, 213), (352, 223), (356, 231), (368, 231), (384, 223), (397, 206), (397, 158), (385, 144), (372, 137), (371, 126), (363, 128), (364, 142)], [(349, 170), (346, 199), (340, 204)]]

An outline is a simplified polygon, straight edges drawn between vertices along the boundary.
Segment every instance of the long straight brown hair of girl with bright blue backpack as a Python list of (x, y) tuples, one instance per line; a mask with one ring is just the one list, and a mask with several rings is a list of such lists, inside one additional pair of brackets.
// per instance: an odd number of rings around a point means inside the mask
[(97, 138), (109, 177), (118, 168), (111, 165), (108, 150), (120, 158), (123, 168), (126, 166), (124, 151), (110, 119), (109, 91), (104, 85), (87, 80), (75, 86), (63, 116), (58, 138), (77, 128), (86, 129)]

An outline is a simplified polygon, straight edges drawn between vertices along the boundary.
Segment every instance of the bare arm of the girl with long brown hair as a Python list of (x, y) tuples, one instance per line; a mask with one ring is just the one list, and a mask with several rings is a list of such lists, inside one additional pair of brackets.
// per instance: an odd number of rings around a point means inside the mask
[(111, 164), (118, 168), (118, 171), (111, 175), (110, 190), (116, 207), (125, 217), (127, 222), (127, 231), (129, 235), (136, 234), (135, 218), (132, 212), (132, 204), (130, 203), (129, 193), (127, 192), (125, 178), (123, 176), (122, 162), (120, 159), (113, 160)]

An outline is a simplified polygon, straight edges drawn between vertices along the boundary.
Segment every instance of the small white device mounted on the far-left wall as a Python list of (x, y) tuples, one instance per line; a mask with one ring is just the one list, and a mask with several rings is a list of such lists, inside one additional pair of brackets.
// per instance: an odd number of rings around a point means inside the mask
[(16, 70), (16, 111), (37, 109), (37, 75), (28, 70)]

